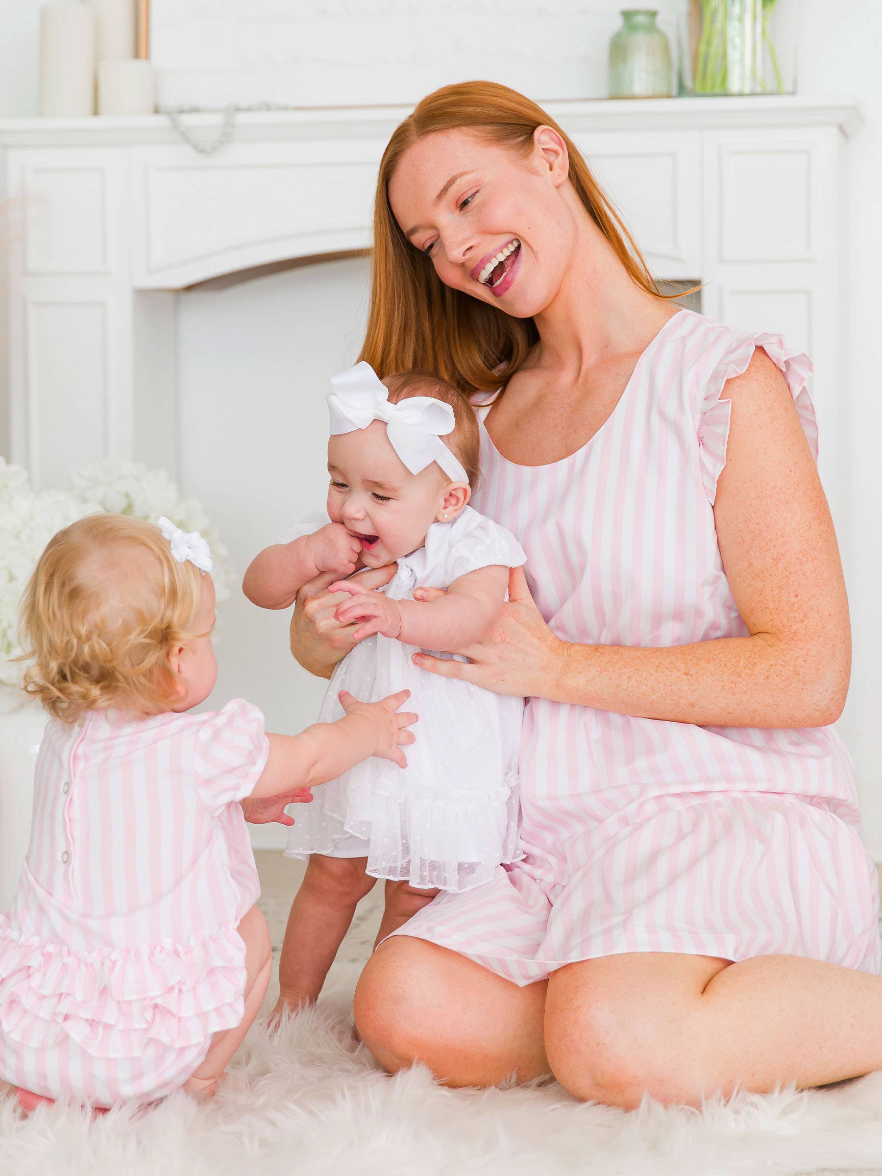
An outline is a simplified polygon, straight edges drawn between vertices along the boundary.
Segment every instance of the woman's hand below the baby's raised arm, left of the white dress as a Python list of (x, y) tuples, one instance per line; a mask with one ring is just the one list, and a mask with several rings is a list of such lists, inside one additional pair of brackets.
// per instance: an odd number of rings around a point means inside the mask
[[(359, 573), (356, 582), (362, 589), (373, 590), (387, 584), (396, 570), (396, 564), (387, 563), (386, 567)], [(328, 592), (339, 579), (335, 573), (328, 572), (303, 584), (290, 619), (290, 652), (303, 669), (319, 677), (330, 677), (336, 663), (356, 643), (354, 633), (358, 626), (334, 620), (334, 613), (347, 599), (342, 593)]]

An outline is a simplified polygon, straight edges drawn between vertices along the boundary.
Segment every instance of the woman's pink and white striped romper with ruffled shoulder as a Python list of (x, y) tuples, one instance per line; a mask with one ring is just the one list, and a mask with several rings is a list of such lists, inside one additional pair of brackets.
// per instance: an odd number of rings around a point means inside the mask
[[(667, 647), (747, 634), (713, 503), (724, 383), (755, 347), (783, 373), (816, 454), (808, 359), (689, 310), (649, 343), (572, 456), (516, 466), (482, 426), (477, 509), (520, 540), (557, 636)], [(782, 953), (878, 970), (876, 870), (833, 727), (697, 727), (530, 699), (521, 809), (526, 857), (440, 895), (399, 934), (517, 984), (626, 951)]]

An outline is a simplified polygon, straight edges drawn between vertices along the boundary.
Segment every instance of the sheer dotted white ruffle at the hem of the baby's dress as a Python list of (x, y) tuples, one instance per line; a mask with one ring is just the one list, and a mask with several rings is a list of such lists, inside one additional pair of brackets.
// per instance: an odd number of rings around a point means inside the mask
[(359, 779), (353, 769), (348, 784), (326, 784), (310, 809), (316, 804), (301, 828), (290, 830), (286, 856), (333, 857), (338, 842), (356, 836), (366, 843), (368, 874), (450, 893), (481, 886), (497, 866), (523, 857), (516, 773), (489, 791), (460, 788), (420, 796), (400, 776)]

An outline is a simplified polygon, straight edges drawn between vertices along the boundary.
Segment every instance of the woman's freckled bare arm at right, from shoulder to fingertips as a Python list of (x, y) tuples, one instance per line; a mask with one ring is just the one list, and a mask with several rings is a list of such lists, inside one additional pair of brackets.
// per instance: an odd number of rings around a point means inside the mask
[(783, 377), (763, 352), (726, 385), (727, 465), (714, 513), (746, 637), (664, 649), (557, 639), (513, 574), (473, 664), (420, 664), (506, 694), (716, 727), (817, 727), (842, 713), (848, 603), (827, 501)]

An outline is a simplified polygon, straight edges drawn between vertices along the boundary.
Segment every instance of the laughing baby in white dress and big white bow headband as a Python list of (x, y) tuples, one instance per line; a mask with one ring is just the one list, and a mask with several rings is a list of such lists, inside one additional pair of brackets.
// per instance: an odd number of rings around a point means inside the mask
[[(526, 562), (509, 532), (468, 506), (479, 477), (474, 410), (442, 380), (380, 381), (363, 361), (332, 388), (327, 514), (261, 552), (243, 589), (256, 604), (287, 608), (308, 581), (336, 575), (335, 619), (355, 644), (334, 670), (320, 721), (342, 716), (342, 689), (379, 700), (406, 687), (419, 739), (406, 767), (365, 760), (299, 810), (286, 854), (308, 863), (285, 935), (276, 1015), (319, 995), (376, 878), (386, 880), (380, 942), (439, 890), (480, 886), (520, 856), (523, 701), (413, 660), (477, 641), (502, 610), (509, 569)], [(386, 564), (395, 566), (386, 587), (366, 589), (359, 573)], [(429, 588), (446, 594), (426, 600)]]

